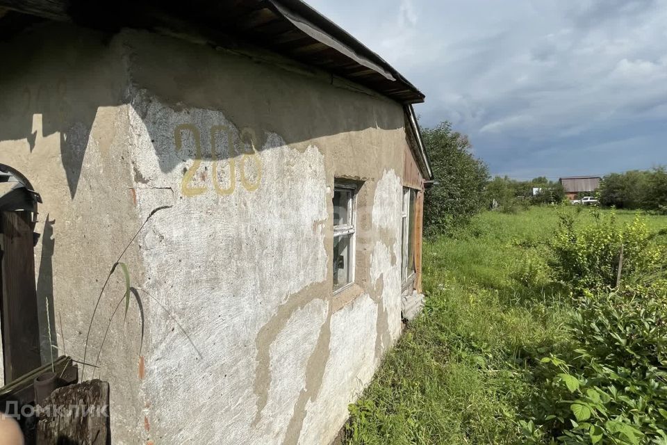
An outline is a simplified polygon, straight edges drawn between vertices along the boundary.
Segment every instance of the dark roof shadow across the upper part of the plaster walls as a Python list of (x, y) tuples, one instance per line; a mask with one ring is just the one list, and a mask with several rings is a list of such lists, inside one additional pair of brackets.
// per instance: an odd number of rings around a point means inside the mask
[(145, 122), (149, 132), (159, 132), (150, 135), (152, 142), (165, 140), (168, 132), (178, 150), (181, 138), (183, 149), (176, 154), (165, 156), (164, 147), (154, 147), (163, 172), (187, 159), (248, 154), (244, 150), (252, 150), (251, 141), (254, 149), (264, 149), (267, 131), (291, 145), (368, 128), (398, 129), (404, 123), (402, 108), (387, 106), (388, 99), (147, 31), (104, 33), (44, 22), (0, 42), (0, 54), (0, 140), (26, 139), (32, 152), (38, 131), (44, 138), (58, 133), (72, 199), (100, 108), (131, 104), (142, 119), (150, 118), (150, 97), (133, 97), (132, 91), (149, 90), (176, 112), (220, 111), (238, 129), (234, 137), (244, 140), (236, 141), (236, 153), (214, 153), (211, 145), (217, 142), (210, 141), (224, 138), (214, 135), (215, 125), (177, 129)]

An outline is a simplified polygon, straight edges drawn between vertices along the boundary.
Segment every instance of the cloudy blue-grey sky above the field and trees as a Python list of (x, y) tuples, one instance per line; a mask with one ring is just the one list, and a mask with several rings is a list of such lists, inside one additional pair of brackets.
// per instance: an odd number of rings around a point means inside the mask
[(493, 174), (667, 164), (667, 0), (307, 0), (468, 133)]

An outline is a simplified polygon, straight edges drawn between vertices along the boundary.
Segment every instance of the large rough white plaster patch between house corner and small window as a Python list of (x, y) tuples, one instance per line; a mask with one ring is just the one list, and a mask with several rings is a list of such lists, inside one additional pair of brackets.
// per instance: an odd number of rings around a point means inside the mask
[[(255, 147), (262, 165), (258, 187), (248, 190), (237, 182), (233, 193), (221, 195), (211, 179), (214, 159), (206, 156), (211, 138), (201, 135), (225, 126), (238, 136), (235, 149), (242, 152), (242, 129), (220, 112), (176, 111), (147, 92), (136, 97), (129, 117), (133, 163), (135, 178), (145, 179), (135, 183), (138, 209), (144, 215), (158, 205), (174, 206), (158, 213), (145, 230), (142, 286), (179, 317), (203, 356), (198, 360), (160, 309), (147, 302), (151, 347), (145, 351), (142, 391), (151, 401), (151, 434), (172, 437), (173, 443), (187, 437), (205, 443), (279, 442), (290, 430), (299, 394), (319, 388), (313, 385), (318, 378), (312, 375), (317, 366), (311, 366), (311, 357), (328, 349), (322, 334), (329, 323), (328, 286), (322, 284), (329, 264), (322, 154), (315, 147), (300, 153), (274, 133), (263, 135), (265, 145)], [(188, 130), (189, 140), (176, 150), (173, 129), (183, 125), (199, 129), (198, 170), (208, 175), (190, 179), (188, 188), (206, 187), (191, 196), (183, 193), (183, 170), (192, 168), (188, 158), (197, 156), (197, 141)], [(229, 154), (227, 138), (215, 143), (219, 153)], [(233, 158), (237, 168), (241, 156)], [(165, 172), (167, 163), (173, 167)], [(217, 175), (221, 183), (229, 179), (229, 163)], [(224, 186), (229, 188), (229, 181)], [(174, 197), (145, 193), (156, 187), (178, 192)], [(215, 419), (195, 417), (183, 424), (193, 407), (221, 401)], [(253, 422), (256, 428), (247, 428)]]

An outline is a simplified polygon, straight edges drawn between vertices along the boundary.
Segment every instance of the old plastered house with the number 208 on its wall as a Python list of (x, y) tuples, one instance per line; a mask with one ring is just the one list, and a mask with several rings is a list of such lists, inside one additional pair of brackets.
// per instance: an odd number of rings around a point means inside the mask
[(0, 0), (0, 54), (4, 384), (72, 357), (114, 444), (331, 443), (420, 307), (424, 95), (298, 0)]

